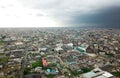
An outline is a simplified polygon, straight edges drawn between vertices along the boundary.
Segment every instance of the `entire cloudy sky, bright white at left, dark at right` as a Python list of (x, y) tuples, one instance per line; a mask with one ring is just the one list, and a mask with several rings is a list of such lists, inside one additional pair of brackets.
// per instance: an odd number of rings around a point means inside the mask
[(0, 0), (0, 27), (120, 27), (120, 0)]

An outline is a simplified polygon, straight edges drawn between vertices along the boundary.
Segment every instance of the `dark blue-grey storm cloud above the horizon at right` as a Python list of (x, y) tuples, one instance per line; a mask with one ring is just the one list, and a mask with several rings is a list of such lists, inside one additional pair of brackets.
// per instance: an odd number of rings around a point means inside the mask
[(95, 24), (95, 25), (120, 25), (120, 7), (108, 7), (97, 10), (95, 13), (75, 14), (70, 23), (79, 24)]

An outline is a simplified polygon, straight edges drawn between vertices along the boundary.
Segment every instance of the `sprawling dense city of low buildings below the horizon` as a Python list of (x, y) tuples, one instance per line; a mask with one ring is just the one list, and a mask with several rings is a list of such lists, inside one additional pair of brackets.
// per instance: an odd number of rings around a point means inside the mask
[(120, 29), (1, 28), (0, 78), (119, 78)]

